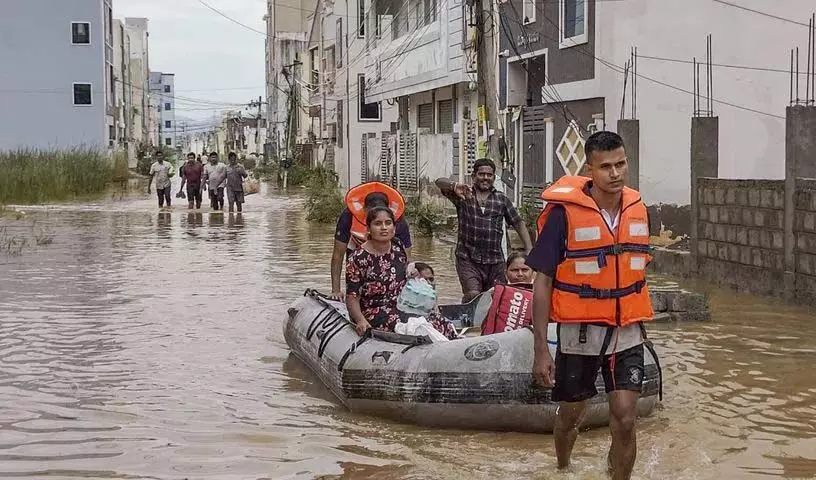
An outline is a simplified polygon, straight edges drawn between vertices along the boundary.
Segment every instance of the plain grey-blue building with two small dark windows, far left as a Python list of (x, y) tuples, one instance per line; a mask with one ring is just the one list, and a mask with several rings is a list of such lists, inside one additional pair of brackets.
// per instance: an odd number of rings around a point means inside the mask
[(0, 150), (115, 145), (111, 1), (2, 4)]

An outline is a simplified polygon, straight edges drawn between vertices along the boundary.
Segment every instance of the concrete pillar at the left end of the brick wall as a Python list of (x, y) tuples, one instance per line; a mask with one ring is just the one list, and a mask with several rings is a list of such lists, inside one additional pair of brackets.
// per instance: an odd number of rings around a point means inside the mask
[(719, 175), (720, 119), (718, 117), (692, 117), (691, 119), (691, 270), (697, 271), (699, 256), (697, 219), (699, 218), (699, 193), (697, 179), (717, 178)]

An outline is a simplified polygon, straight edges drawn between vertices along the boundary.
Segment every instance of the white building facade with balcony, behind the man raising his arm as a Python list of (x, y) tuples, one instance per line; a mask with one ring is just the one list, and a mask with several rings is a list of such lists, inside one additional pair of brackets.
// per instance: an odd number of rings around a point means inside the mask
[(382, 151), (368, 146), (371, 174), (403, 191), (424, 189), (438, 177), (464, 178), (480, 138), (478, 7), (461, 0), (367, 0), (361, 8), (369, 12), (358, 25), (366, 30), (361, 92), (367, 101), (400, 106), (396, 138)]

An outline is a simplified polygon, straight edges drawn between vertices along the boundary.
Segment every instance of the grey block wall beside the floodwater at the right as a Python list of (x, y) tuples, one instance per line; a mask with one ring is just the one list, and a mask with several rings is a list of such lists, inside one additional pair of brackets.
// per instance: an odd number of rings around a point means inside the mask
[(698, 273), (739, 290), (816, 304), (816, 180), (797, 179), (794, 198), (795, 268), (786, 279), (785, 181), (700, 178)]

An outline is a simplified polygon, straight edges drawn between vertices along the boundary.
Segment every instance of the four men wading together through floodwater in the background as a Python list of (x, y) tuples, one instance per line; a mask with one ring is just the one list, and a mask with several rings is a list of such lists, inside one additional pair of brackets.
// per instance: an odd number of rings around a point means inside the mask
[[(176, 197), (186, 197), (188, 209), (200, 209), (202, 194), (204, 190), (208, 190), (210, 208), (223, 210), (224, 192), (226, 191), (229, 211), (232, 212), (236, 208), (239, 212), (243, 211), (244, 179), (247, 178), (247, 171), (243, 165), (238, 163), (238, 155), (230, 152), (227, 155), (226, 165), (219, 162), (218, 152), (212, 152), (209, 155), (205, 153), (204, 157), (208, 159), (206, 165), (202, 163), (201, 155), (193, 152), (187, 154), (187, 161), (179, 169), (181, 186)], [(159, 208), (163, 208), (165, 203), (170, 207), (172, 200), (170, 177), (173, 175), (173, 165), (165, 161), (164, 153), (161, 150), (155, 152), (154, 158), (156, 161), (150, 166), (147, 193), (150, 194), (151, 183), (155, 183)], [(186, 195), (185, 185), (187, 186)]]

